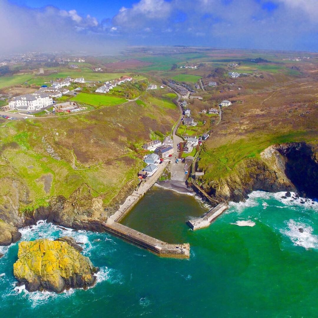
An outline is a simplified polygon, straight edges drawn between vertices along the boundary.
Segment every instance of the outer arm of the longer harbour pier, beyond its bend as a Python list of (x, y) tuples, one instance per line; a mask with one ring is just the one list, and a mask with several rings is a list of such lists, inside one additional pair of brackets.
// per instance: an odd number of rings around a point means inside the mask
[(182, 259), (190, 257), (190, 245), (188, 243), (168, 244), (117, 222), (107, 222), (103, 223), (103, 225), (107, 232), (145, 248), (159, 256)]

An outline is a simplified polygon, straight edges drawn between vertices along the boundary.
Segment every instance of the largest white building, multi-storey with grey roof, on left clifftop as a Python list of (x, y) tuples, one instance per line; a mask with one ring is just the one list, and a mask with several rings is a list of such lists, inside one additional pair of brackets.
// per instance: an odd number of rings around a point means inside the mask
[(44, 93), (25, 94), (9, 101), (10, 109), (22, 111), (39, 110), (53, 104), (52, 97)]

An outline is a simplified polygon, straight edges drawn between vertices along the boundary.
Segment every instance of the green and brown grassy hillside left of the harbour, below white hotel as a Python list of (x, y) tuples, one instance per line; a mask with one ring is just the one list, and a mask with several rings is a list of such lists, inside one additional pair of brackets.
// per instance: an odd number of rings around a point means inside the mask
[[(14, 179), (27, 195), (21, 210), (45, 205), (50, 197), (69, 197), (82, 184), (107, 205), (137, 183), (144, 166), (138, 147), (154, 131), (171, 131), (178, 116), (151, 102), (129, 102), (74, 116), (9, 122), (0, 130), (0, 180)], [(10, 195), (10, 187), (2, 187), (1, 194)]]

